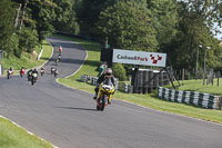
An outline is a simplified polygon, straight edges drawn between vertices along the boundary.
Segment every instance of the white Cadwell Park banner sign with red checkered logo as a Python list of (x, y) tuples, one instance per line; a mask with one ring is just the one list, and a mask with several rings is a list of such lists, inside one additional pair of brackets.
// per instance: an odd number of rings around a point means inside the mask
[(112, 62), (165, 67), (167, 53), (113, 49)]

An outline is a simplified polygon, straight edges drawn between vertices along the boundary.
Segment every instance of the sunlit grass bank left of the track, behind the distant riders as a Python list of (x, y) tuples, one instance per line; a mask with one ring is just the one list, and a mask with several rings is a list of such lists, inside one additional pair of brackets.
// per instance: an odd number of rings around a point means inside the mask
[[(37, 49), (40, 47), (37, 47)], [(32, 57), (32, 55), (27, 53), (27, 52), (22, 52), (21, 58), (17, 58), (16, 56), (10, 56), (9, 58), (4, 58), (2, 60), (2, 66), (4, 68), (4, 70), (9, 69), (10, 67), (12, 67), (14, 70), (19, 70), (21, 67), (24, 67), (26, 69), (29, 68), (33, 68), (37, 66), (41, 66), (42, 63), (44, 63), (48, 58), (51, 56), (52, 53), (52, 48), (49, 45), (49, 42), (43, 41), (43, 53), (42, 57), (39, 61), (37, 61), (36, 57)], [(39, 49), (38, 49), (39, 52)]]

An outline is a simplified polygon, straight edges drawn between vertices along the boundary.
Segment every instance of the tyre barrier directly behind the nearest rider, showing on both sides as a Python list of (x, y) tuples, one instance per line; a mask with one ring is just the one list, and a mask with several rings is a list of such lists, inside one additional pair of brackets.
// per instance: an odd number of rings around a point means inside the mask
[[(90, 81), (91, 85), (95, 86), (97, 85), (97, 80), (98, 80), (98, 77), (92, 77), (92, 76), (89, 76), (89, 75), (82, 75), (80, 80), (82, 82), (88, 82)], [(127, 93), (131, 93), (133, 91), (133, 88), (131, 85), (128, 85), (125, 82), (119, 82), (118, 79), (115, 79), (117, 81), (117, 86), (115, 88), (120, 91), (123, 91), (123, 92), (127, 92)]]

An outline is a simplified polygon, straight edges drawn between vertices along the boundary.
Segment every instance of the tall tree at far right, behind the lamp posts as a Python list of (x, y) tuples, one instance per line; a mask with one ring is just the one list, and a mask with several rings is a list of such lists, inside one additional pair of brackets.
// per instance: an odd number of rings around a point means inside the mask
[[(219, 45), (219, 41), (213, 37), (212, 26), (219, 21), (218, 14), (214, 14), (215, 11), (219, 11), (219, 6), (221, 4), (216, 4), (216, 1), (188, 0), (178, 2), (180, 18), (178, 31), (171, 42), (162, 49), (163, 52), (168, 53), (168, 58), (175, 68), (193, 70), (198, 52), (199, 65), (203, 63), (205, 47), (211, 47), (211, 50), (206, 52), (206, 65), (213, 67), (213, 61), (215, 61), (214, 45)], [(203, 48), (200, 48), (199, 45)]]

